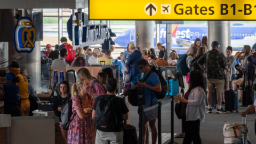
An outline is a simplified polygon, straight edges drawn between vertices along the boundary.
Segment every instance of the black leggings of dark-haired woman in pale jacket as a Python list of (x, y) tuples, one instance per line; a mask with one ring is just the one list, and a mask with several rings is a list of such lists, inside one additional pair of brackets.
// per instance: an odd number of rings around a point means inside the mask
[(185, 138), (183, 140), (183, 144), (201, 144), (200, 137), (200, 121), (197, 119), (196, 121), (187, 121), (185, 125)]

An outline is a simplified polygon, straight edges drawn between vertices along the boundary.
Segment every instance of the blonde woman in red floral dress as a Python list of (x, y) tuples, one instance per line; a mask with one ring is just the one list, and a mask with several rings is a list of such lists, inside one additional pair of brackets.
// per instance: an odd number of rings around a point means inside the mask
[(72, 86), (72, 112), (68, 130), (68, 143), (93, 144), (92, 124), (90, 116), (94, 100), (90, 91), (90, 83), (85, 78), (80, 78)]

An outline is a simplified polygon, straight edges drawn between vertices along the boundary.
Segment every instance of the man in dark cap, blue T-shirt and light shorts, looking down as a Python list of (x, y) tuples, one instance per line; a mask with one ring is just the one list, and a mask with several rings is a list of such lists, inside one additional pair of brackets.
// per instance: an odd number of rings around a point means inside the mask
[[(149, 108), (152, 105), (155, 105), (158, 101), (155, 92), (160, 93), (162, 91), (161, 82), (159, 81), (158, 75), (153, 72), (151, 73), (151, 69), (149, 67), (149, 63), (147, 60), (142, 59), (138, 61), (138, 68), (144, 73), (142, 82), (139, 82), (136, 85), (133, 85), (129, 89), (134, 90), (135, 87), (142, 86), (145, 87), (145, 101), (146, 105), (143, 105), (143, 109)], [(147, 76), (149, 75), (149, 76)], [(149, 110), (143, 113), (143, 139), (149, 138), (149, 135), (146, 137), (146, 131), (148, 129), (147, 123), (149, 122), (149, 126), (152, 134), (152, 144), (156, 144), (157, 141), (157, 127), (156, 127), (156, 119), (157, 117), (157, 108)], [(147, 141), (147, 140), (146, 140)]]

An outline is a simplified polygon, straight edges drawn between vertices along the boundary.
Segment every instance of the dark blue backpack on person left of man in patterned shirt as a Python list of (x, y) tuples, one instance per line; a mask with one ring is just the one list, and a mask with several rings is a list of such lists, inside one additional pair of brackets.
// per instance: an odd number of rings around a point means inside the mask
[(177, 60), (177, 69), (178, 72), (181, 73), (183, 76), (186, 76), (189, 72), (189, 68), (187, 67), (186, 64), (186, 59), (187, 59), (188, 55), (187, 54), (183, 54), (181, 57), (179, 57), (179, 59)]

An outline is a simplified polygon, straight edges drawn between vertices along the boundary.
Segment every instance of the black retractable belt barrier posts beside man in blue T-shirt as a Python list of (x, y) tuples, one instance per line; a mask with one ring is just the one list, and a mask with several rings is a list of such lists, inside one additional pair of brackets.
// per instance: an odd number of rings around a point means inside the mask
[(171, 141), (170, 143), (174, 142), (174, 102), (173, 102), (173, 96), (169, 100), (166, 101), (158, 101), (156, 105), (153, 105), (149, 108), (143, 109), (142, 106), (139, 106), (138, 108), (138, 114), (139, 114), (139, 143), (143, 143), (143, 113), (149, 110), (152, 110), (154, 108), (158, 108), (158, 144), (162, 143), (162, 113), (161, 113), (161, 107), (163, 105), (166, 105), (167, 103), (171, 102)]

